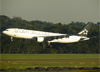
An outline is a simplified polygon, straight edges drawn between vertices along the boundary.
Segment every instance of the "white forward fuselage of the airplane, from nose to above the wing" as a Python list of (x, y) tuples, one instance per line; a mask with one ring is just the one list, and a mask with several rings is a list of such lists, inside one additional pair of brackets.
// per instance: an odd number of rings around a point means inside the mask
[(60, 34), (60, 33), (52, 33), (52, 32), (43, 32), (43, 31), (36, 31), (36, 30), (27, 30), (27, 29), (7, 29), (3, 31), (4, 34), (17, 37), (17, 38), (26, 38), (26, 39), (32, 39), (34, 37), (47, 37), (47, 36), (62, 36), (66, 34)]

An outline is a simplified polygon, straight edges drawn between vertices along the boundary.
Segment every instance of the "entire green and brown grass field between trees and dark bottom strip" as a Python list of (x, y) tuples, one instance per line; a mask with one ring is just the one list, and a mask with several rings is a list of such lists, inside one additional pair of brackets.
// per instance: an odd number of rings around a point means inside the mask
[(0, 64), (1, 69), (100, 67), (99, 54), (1, 54)]

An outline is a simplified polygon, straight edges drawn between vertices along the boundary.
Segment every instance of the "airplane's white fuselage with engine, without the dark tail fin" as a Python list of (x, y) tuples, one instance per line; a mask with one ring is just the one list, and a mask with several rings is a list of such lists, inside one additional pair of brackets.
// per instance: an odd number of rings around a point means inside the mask
[[(24, 38), (24, 39), (33, 39), (37, 38), (38, 42), (43, 42), (45, 37), (56, 37), (56, 36), (65, 36), (66, 34), (60, 33), (52, 33), (52, 32), (43, 32), (43, 31), (36, 31), (36, 30), (27, 30), (27, 29), (18, 29), (18, 28), (9, 28), (3, 31), (4, 34), (9, 35), (11, 37), (16, 38)], [(72, 35), (69, 37), (63, 37), (58, 39), (53, 39), (50, 42), (59, 42), (59, 43), (73, 43), (78, 42), (80, 39), (83, 38), (84, 40), (88, 40), (89, 38), (85, 36), (76, 36)]]

